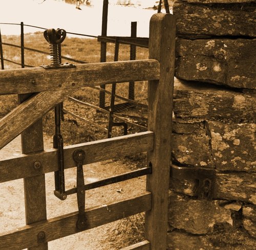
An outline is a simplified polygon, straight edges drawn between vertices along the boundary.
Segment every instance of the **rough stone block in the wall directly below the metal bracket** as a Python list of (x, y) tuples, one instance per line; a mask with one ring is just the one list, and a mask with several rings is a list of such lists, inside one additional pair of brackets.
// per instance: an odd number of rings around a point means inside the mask
[(232, 225), (233, 221), (230, 210), (219, 206), (219, 201), (199, 201), (170, 192), (168, 223), (189, 233), (207, 234), (215, 224)]

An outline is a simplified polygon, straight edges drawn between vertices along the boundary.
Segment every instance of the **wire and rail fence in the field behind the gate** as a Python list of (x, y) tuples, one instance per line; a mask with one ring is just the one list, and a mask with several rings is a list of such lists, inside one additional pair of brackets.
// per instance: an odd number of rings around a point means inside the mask
[[(12, 44), (10, 42), (2, 42), (2, 35), (1, 35), (1, 30), (0, 30), (0, 57), (1, 57), (1, 68), (5, 69), (5, 61), (9, 63), (13, 63), (15, 65), (19, 65), (22, 68), (24, 67), (34, 67), (34, 65), (29, 65), (25, 64), (25, 51), (30, 51), (34, 53), (39, 53), (39, 54), (44, 54), (44, 55), (50, 55), (49, 52), (46, 51), (41, 51), (40, 49), (36, 48), (31, 48), (28, 46), (24, 45), (24, 40), (25, 40), (25, 35), (24, 35), (24, 27), (33, 27), (36, 29), (41, 29), (41, 30), (48, 30), (43, 27), (38, 27), (38, 26), (33, 26), (30, 24), (24, 24), (23, 22), (21, 23), (6, 23), (6, 22), (0, 22), (2, 25), (16, 25), (20, 26), (20, 45)], [(73, 33), (73, 32), (67, 32), (67, 34), (72, 34), (72, 35), (78, 35), (78, 36), (83, 36), (83, 37), (90, 37), (90, 38), (97, 38), (97, 40), (101, 43), (115, 43), (115, 55), (114, 55), (114, 61), (118, 61), (118, 54), (119, 54), (119, 44), (129, 44), (131, 46), (131, 55), (130, 55), (130, 60), (135, 60), (136, 59), (136, 46), (139, 47), (144, 47), (148, 48), (148, 38), (137, 38), (136, 37), (136, 24), (137, 23), (132, 23), (132, 36), (131, 37), (108, 37), (108, 36), (92, 36), (92, 35), (87, 35), (87, 34), (79, 34), (79, 33)], [(15, 48), (20, 49), (21, 57), (20, 57), (20, 62), (8, 59), (4, 57), (4, 50), (3, 50), (3, 45), (5, 46), (11, 46)], [(72, 57), (66, 57), (66, 56), (61, 56), (62, 59), (69, 60), (71, 62), (76, 62), (76, 63), (88, 63), (87, 61), (81, 61), (77, 60)], [(141, 83), (140, 83), (141, 84)], [(145, 83), (142, 83), (145, 85)], [(83, 102), (79, 99), (76, 99), (74, 97), (69, 97), (70, 102), (75, 102), (79, 106), (86, 106), (90, 110), (96, 110), (97, 112), (105, 114), (105, 122), (100, 122), (90, 120), (92, 117), (87, 118), (85, 113), (82, 113), (82, 115), (75, 114), (75, 112), (68, 110), (68, 109), (63, 109), (63, 112), (66, 114), (69, 114), (81, 121), (87, 122), (95, 127), (97, 127), (99, 130), (102, 132), (107, 133), (108, 137), (112, 137), (112, 129), (113, 127), (135, 127), (138, 130), (145, 131), (146, 128), (146, 113), (147, 113), (147, 104), (141, 103), (139, 101), (136, 101), (136, 93), (135, 91), (135, 83), (130, 82), (128, 89), (129, 93), (127, 97), (121, 96), (116, 93), (116, 89), (113, 88), (115, 84), (112, 85), (111, 89), (105, 89), (105, 86), (102, 88), (101, 87), (93, 87), (91, 89), (94, 89), (95, 91), (99, 91), (100, 93), (107, 94), (107, 98), (104, 98), (104, 105), (103, 107), (100, 107), (91, 104), (88, 102)], [(118, 85), (118, 84), (117, 84)], [(116, 86), (116, 85), (115, 85)], [(117, 86), (118, 87), (118, 86)], [(141, 89), (140, 87), (137, 89)], [(146, 87), (142, 88), (144, 89), (143, 91), (145, 92), (144, 95), (146, 95)], [(137, 95), (141, 96), (141, 94)], [(101, 100), (102, 101), (102, 100)], [(144, 100), (146, 102), (146, 100)], [(100, 103), (100, 100), (97, 101)], [(109, 105), (107, 104), (109, 102)], [(138, 109), (139, 108), (139, 109)], [(132, 109), (132, 112), (129, 112), (129, 109)], [(143, 112), (142, 112), (143, 110)], [(91, 113), (91, 112), (89, 112)], [(142, 113), (145, 114), (144, 117), (142, 117)], [(114, 122), (115, 120), (118, 120), (119, 122)], [(143, 122), (140, 122), (139, 120), (143, 119)], [(99, 124), (100, 123), (100, 124)], [(105, 123), (102, 125), (102, 123)], [(140, 124), (142, 123), (142, 124)], [(104, 127), (105, 126), (105, 127)], [(119, 128), (120, 130), (120, 128)], [(125, 131), (125, 128), (124, 128)]]

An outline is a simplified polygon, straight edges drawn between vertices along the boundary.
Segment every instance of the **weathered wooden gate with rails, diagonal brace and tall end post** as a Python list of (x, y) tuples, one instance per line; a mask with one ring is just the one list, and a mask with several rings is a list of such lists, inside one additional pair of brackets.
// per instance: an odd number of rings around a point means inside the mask
[[(167, 200), (175, 58), (175, 20), (155, 14), (150, 22), (150, 59), (78, 64), (75, 68), (23, 68), (0, 71), (0, 94), (18, 94), (20, 105), (0, 121), (0, 149), (22, 134), (23, 155), (0, 162), (0, 182), (24, 178), (26, 226), (0, 236), (0, 249), (48, 249), (49, 241), (143, 211), (145, 241), (123, 249), (166, 249)], [(87, 226), (76, 227), (78, 212), (47, 219), (45, 173), (58, 170), (57, 149), (44, 151), (42, 115), (80, 87), (148, 80), (148, 131), (66, 146), (65, 168), (74, 167), (76, 149), (83, 164), (148, 152), (146, 190), (107, 207), (85, 210)], [(136, 171), (142, 171), (139, 169)], [(127, 174), (127, 178), (133, 174)]]

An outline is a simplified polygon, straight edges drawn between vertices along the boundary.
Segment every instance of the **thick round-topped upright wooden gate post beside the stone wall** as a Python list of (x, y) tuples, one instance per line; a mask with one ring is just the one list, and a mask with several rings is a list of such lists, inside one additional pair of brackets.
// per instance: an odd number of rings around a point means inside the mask
[(152, 192), (152, 210), (145, 216), (145, 238), (152, 250), (167, 248), (170, 140), (172, 134), (176, 23), (172, 14), (155, 14), (150, 21), (150, 59), (160, 62), (159, 81), (148, 83), (148, 130), (154, 132), (154, 150), (148, 152), (152, 174), (146, 189)]

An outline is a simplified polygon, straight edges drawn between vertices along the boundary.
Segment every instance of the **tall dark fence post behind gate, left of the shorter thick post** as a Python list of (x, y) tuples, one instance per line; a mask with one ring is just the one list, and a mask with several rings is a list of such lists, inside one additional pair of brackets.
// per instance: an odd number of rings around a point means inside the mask
[[(101, 26), (101, 36), (106, 36), (106, 31), (108, 29), (108, 10), (109, 10), (109, 0), (103, 1), (102, 8), (102, 26)], [(106, 62), (106, 42), (100, 42), (100, 62)], [(100, 85), (102, 89), (105, 89), (105, 85)], [(105, 108), (105, 93), (103, 91), (99, 92), (99, 107)]]

